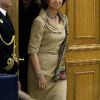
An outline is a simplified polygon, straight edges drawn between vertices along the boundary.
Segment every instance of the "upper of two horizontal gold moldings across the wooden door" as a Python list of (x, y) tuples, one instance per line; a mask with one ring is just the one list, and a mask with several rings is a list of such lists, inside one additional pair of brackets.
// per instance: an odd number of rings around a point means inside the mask
[(100, 44), (72, 45), (69, 46), (68, 48), (68, 51), (83, 51), (83, 50), (100, 50)]

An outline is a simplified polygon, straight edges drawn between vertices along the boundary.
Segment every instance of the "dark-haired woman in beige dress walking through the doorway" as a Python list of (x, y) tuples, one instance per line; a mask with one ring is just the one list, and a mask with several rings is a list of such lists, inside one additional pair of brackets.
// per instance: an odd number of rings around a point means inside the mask
[(34, 20), (28, 53), (28, 92), (36, 100), (66, 100), (66, 80), (53, 81), (58, 51), (66, 37), (67, 18), (59, 12), (65, 0), (41, 0)]

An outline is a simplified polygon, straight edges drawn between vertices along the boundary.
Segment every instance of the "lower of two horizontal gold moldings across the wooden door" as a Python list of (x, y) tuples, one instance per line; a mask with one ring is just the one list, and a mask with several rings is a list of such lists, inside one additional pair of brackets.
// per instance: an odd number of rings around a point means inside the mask
[(74, 65), (91, 65), (91, 64), (100, 64), (100, 59), (91, 59), (91, 60), (72, 60), (66, 61), (66, 65), (74, 66)]

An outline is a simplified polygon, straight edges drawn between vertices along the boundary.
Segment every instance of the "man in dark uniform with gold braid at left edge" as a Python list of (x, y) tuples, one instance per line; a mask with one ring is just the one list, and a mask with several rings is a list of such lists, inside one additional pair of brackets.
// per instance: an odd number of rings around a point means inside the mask
[(15, 74), (18, 61), (14, 54), (15, 30), (7, 14), (11, 0), (0, 0), (0, 73)]

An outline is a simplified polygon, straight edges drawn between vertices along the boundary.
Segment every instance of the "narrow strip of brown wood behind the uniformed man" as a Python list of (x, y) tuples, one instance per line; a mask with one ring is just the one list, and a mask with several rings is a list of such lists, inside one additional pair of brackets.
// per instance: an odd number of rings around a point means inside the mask
[(16, 53), (18, 56), (18, 0), (11, 0), (11, 1), (12, 1), (12, 7), (8, 9), (8, 13), (15, 28), (16, 46), (17, 46)]

